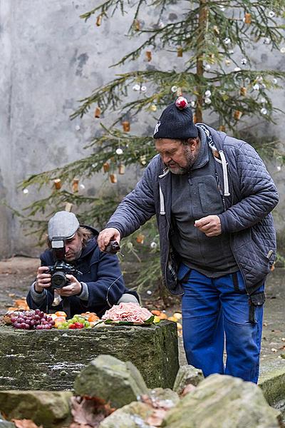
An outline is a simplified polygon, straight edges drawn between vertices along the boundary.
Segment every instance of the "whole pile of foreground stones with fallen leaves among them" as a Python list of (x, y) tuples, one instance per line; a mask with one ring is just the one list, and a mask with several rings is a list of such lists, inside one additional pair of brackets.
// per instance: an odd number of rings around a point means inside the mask
[[(280, 412), (267, 404), (256, 384), (219, 374), (203, 379), (199, 370), (184, 366), (173, 389), (147, 389), (132, 363), (110, 355), (98, 356), (81, 371), (73, 393), (0, 391), (0, 410), (9, 420), (32, 419), (43, 428), (69, 427), (74, 396), (98, 397), (115, 408), (100, 424), (86, 425), (90, 427), (284, 427)], [(0, 419), (0, 428), (10, 427), (14, 424)]]

